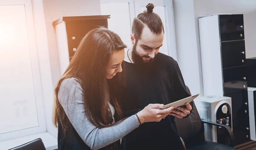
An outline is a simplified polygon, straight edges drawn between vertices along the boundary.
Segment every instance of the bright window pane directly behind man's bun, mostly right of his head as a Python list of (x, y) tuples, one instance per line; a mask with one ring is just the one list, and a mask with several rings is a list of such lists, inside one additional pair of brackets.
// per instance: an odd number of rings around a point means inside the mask
[[(140, 7), (141, 12), (147, 10), (146, 7)], [(166, 8), (165, 6), (155, 6), (153, 9), (153, 12), (158, 14), (163, 22), (163, 28), (164, 28), (164, 36), (163, 36), (163, 46), (160, 48), (161, 53), (165, 55), (169, 55), (169, 46), (168, 46), (168, 35), (167, 35), (167, 28), (166, 28)]]

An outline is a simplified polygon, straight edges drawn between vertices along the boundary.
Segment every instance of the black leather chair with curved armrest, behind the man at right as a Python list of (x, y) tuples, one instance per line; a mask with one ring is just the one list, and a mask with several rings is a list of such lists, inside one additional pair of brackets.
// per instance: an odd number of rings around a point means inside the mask
[[(189, 88), (186, 86), (190, 93)], [(191, 95), (191, 93), (190, 93)], [(193, 102), (193, 110), (187, 118), (175, 118), (177, 132), (180, 135), (185, 150), (236, 150), (234, 146), (234, 134), (231, 128), (224, 124), (205, 121), (200, 118), (198, 110)], [(205, 141), (204, 124), (211, 124), (217, 127), (223, 127), (227, 130), (230, 138), (230, 146), (215, 142)]]

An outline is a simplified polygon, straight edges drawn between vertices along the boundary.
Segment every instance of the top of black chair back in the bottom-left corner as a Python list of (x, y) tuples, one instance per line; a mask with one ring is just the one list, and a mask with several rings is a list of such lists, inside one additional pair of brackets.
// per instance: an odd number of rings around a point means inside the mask
[(22, 144), (18, 147), (14, 147), (10, 150), (45, 150), (44, 143), (41, 138), (37, 138), (26, 144)]

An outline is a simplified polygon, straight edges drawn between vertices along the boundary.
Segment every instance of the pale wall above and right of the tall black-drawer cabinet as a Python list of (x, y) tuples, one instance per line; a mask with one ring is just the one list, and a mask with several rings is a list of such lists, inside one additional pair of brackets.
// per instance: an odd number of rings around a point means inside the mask
[(207, 14), (244, 14), (246, 57), (256, 57), (256, 0), (194, 0), (194, 9), (196, 20)]

